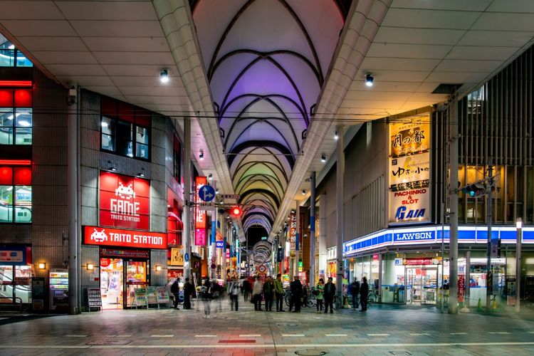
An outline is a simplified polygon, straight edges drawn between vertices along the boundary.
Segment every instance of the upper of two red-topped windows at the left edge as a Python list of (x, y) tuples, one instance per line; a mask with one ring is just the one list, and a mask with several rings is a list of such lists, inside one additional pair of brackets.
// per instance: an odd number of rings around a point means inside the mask
[(31, 89), (0, 88), (0, 145), (31, 145)]

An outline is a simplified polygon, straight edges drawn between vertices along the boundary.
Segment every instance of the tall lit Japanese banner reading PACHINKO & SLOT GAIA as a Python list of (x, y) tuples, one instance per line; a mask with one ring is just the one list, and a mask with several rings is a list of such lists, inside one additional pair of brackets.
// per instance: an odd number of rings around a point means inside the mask
[(430, 203), (430, 113), (389, 124), (389, 223), (428, 222)]

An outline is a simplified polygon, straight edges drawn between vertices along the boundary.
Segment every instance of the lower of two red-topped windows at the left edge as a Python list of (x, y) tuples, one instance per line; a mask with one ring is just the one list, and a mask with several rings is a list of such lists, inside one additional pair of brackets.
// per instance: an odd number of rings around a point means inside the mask
[(31, 223), (31, 167), (0, 167), (0, 223)]

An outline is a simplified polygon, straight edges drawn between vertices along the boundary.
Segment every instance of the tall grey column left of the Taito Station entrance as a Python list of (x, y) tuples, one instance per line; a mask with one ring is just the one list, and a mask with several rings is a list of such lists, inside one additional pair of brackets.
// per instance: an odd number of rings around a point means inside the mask
[[(80, 259), (78, 258), (78, 88), (72, 87), (73, 104), (68, 107), (68, 308), (69, 314), (80, 313), (78, 287)], [(75, 94), (75, 95), (72, 95)]]

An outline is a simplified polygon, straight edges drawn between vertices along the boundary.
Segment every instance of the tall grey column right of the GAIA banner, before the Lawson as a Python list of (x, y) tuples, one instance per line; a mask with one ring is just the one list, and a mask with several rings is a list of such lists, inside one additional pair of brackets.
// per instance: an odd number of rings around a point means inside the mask
[(449, 314), (458, 313), (458, 98), (456, 90), (449, 103)]

